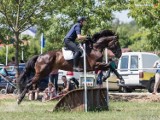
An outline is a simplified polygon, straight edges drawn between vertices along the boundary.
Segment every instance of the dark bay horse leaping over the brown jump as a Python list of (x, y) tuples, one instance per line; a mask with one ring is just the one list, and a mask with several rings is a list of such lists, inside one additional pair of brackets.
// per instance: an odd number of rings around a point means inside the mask
[[(120, 58), (122, 52), (118, 36), (111, 30), (103, 30), (93, 35), (90, 41), (86, 41), (87, 71), (107, 70), (108, 64), (103, 62), (104, 49), (111, 50), (115, 57)], [(83, 68), (83, 58), (80, 59), (79, 67)], [(18, 104), (24, 98), (32, 84), (37, 83), (41, 78), (48, 76), (53, 70), (73, 71), (73, 61), (66, 61), (62, 51), (49, 51), (48, 53), (33, 56), (26, 63), (25, 71), (17, 80), (19, 86)], [(34, 77), (28, 78), (31, 73)]]

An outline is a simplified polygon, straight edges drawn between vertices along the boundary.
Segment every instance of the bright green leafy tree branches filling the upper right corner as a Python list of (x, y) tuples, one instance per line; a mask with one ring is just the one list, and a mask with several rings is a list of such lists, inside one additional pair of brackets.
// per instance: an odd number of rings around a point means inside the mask
[(132, 16), (140, 26), (144, 26), (150, 32), (146, 40), (151, 50), (159, 49), (160, 39), (160, 1), (159, 0), (130, 0), (130, 16)]

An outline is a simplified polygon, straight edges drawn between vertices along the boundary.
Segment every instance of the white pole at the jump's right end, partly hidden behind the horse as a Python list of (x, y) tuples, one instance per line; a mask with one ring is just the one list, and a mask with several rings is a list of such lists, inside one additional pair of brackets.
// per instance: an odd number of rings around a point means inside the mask
[[(105, 49), (105, 58), (106, 58), (106, 64), (108, 63), (108, 50)], [(107, 98), (107, 107), (109, 107), (109, 89), (108, 89), (108, 78), (106, 80), (106, 98)]]

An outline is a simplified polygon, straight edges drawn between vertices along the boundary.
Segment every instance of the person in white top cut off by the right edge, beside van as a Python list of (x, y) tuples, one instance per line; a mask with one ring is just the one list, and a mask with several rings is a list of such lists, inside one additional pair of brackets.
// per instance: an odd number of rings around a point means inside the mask
[(160, 83), (160, 59), (154, 63), (153, 67), (157, 68), (157, 70), (155, 74), (155, 84), (154, 84), (154, 90), (152, 94), (157, 94), (157, 89)]

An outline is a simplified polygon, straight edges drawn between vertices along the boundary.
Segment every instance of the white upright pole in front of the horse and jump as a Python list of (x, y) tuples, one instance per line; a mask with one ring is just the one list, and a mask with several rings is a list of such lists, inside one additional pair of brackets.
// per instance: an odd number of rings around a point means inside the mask
[(87, 78), (86, 78), (86, 44), (83, 44), (83, 54), (84, 54), (84, 102), (85, 102), (85, 112), (87, 112)]

